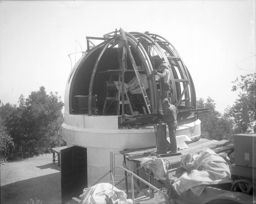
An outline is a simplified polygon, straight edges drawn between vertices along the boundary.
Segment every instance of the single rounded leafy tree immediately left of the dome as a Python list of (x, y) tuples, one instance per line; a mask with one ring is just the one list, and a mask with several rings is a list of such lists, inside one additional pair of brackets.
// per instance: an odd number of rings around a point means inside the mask
[(26, 99), (26, 109), (23, 112), (23, 119), (27, 122), (23, 126), (26, 126), (27, 130), (29, 152), (40, 147), (60, 146), (63, 105), (57, 93), (50, 92), (48, 95), (43, 86), (39, 91), (31, 92)]

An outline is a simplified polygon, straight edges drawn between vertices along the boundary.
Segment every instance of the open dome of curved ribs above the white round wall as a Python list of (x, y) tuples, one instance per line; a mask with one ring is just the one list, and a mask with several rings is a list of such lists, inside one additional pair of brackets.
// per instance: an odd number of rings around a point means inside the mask
[[(102, 42), (96, 45), (95, 41)], [(122, 53), (121, 62), (118, 56), (120, 41), (124, 41), (123, 50), (127, 55), (124, 58)], [(163, 62), (170, 72), (169, 97), (178, 108), (179, 123), (195, 121), (194, 112), (202, 110), (196, 110), (194, 83), (175, 47), (157, 34), (127, 33), (122, 29), (105, 34), (103, 38), (87, 37), (87, 52), (75, 65), (68, 80), (69, 113), (80, 114), (76, 96), (88, 96), (88, 112), (84, 114), (93, 115), (96, 96), (98, 115), (121, 115), (119, 124), (158, 122), (156, 115), (163, 96), (161, 83), (156, 81), (152, 71)], [(146, 81), (141, 76), (146, 77)], [(125, 84), (133, 79), (137, 80), (140, 93), (131, 94), (129, 89), (125, 93)], [(114, 82), (118, 82), (116, 89), (108, 90)]]

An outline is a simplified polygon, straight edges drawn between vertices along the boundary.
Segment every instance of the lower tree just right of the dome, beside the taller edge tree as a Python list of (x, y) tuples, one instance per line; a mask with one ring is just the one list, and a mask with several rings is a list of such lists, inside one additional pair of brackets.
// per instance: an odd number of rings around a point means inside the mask
[(198, 115), (198, 118), (201, 120), (201, 137), (216, 140), (232, 140), (234, 121), (215, 110), (216, 103), (213, 99), (208, 97), (204, 101), (203, 98), (198, 98), (197, 108), (209, 108), (208, 113)]

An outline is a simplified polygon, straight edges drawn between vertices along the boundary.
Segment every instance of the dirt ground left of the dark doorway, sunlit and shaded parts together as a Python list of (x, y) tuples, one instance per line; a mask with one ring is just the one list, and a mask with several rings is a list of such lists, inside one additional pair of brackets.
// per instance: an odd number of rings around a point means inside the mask
[(60, 167), (52, 163), (52, 154), (8, 162), (0, 170), (2, 204), (26, 204), (30, 198), (61, 203)]

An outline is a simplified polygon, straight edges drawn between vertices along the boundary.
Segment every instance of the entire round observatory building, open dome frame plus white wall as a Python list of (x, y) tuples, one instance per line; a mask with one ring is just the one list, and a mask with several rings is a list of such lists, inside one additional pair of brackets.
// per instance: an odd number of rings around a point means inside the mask
[[(193, 81), (172, 44), (156, 34), (122, 29), (87, 37), (87, 51), (66, 84), (62, 139), (67, 149), (85, 148), (89, 186), (122, 165), (121, 150), (156, 146), (163, 96), (162, 81), (152, 72), (164, 61), (171, 75), (169, 98), (178, 108), (176, 136), (198, 140), (201, 121), (195, 112), (204, 109), (196, 109)], [(114, 173), (123, 178), (123, 171)]]

